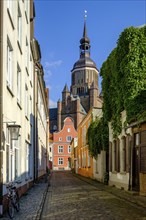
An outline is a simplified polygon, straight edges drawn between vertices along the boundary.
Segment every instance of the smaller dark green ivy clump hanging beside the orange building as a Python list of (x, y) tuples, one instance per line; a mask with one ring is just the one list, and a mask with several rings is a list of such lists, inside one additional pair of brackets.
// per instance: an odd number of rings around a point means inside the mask
[(89, 152), (97, 157), (101, 150), (108, 150), (108, 125), (103, 118), (93, 121), (87, 131)]

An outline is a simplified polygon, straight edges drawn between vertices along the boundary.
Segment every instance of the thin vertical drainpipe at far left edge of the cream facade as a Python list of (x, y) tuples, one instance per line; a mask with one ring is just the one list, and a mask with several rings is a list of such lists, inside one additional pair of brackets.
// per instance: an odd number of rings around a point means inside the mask
[(3, 1), (0, 1), (0, 217), (3, 216)]

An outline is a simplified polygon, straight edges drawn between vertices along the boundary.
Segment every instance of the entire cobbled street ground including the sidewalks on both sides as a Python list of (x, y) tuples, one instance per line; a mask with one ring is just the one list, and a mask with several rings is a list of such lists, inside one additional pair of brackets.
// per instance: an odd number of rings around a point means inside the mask
[[(146, 197), (71, 172), (53, 172), (48, 183), (22, 196), (20, 206), (14, 220), (146, 220)], [(8, 219), (5, 213), (2, 220)]]

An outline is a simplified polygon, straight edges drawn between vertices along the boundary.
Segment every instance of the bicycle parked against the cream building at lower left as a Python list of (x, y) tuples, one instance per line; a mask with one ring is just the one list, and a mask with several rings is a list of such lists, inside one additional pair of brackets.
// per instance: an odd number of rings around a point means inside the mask
[(15, 209), (17, 212), (20, 210), (20, 203), (19, 203), (19, 195), (18, 191), (16, 190), (16, 186), (14, 182), (10, 182), (6, 185), (8, 194), (8, 215), (11, 219), (13, 219), (15, 214)]

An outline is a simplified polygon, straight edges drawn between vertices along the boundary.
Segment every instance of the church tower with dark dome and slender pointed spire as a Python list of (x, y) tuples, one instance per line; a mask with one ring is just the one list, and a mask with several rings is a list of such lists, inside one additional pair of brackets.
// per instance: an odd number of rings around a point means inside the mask
[(80, 57), (71, 70), (71, 93), (78, 95), (86, 112), (91, 107), (101, 107), (98, 91), (99, 71), (90, 58), (90, 39), (87, 36), (86, 18), (84, 19), (83, 37), (80, 40)]

